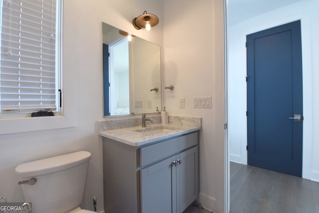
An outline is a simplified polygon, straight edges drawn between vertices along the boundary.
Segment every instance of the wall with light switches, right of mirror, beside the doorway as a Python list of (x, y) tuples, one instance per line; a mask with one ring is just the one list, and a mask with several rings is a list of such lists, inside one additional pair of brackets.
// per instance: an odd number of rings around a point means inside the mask
[[(170, 115), (200, 116), (199, 199), (224, 208), (223, 1), (164, 0), (164, 106)], [(212, 97), (211, 108), (193, 108), (194, 97)], [(185, 108), (179, 99), (185, 98)]]

